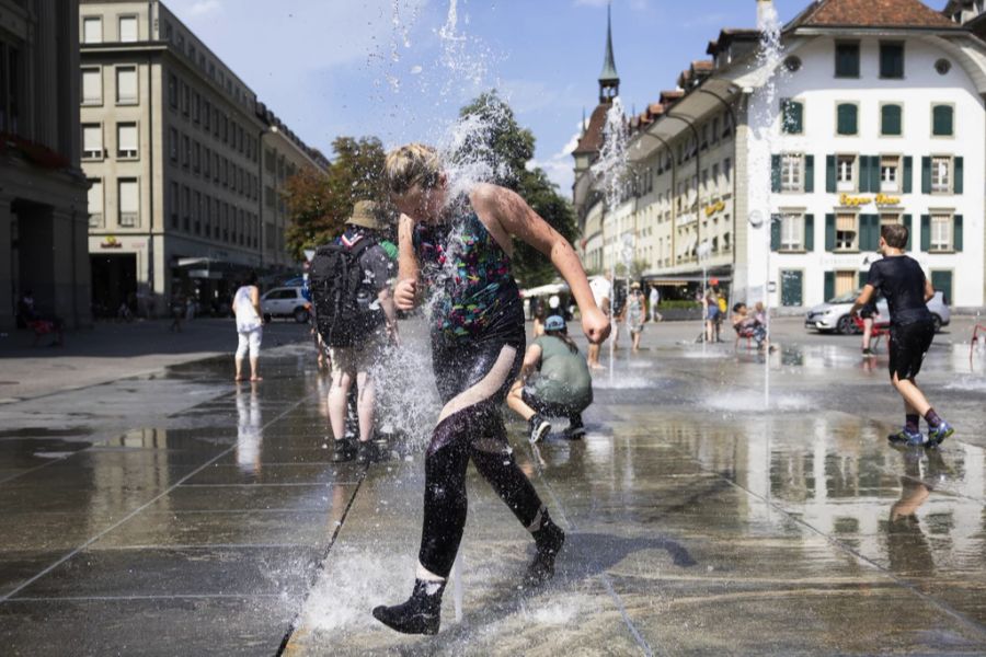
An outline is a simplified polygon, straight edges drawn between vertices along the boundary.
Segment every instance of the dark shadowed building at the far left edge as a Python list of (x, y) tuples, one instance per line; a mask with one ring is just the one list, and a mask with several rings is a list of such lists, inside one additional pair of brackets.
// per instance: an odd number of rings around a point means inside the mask
[(20, 297), (87, 325), (78, 1), (0, 0), (0, 331)]

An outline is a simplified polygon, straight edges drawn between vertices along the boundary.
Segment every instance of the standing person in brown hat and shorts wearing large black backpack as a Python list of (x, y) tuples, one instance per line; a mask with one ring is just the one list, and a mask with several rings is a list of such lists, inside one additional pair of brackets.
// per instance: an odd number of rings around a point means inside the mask
[[(319, 250), (309, 274), (316, 318), (322, 339), (330, 346), (332, 383), (329, 388), (329, 422), (335, 438), (334, 461), (366, 463), (374, 453), (374, 414), (376, 377), (389, 339), (397, 341), (397, 313), (390, 293), (391, 261), (380, 245), (383, 228), (378, 219), (381, 208), (371, 200), (357, 201), (346, 220), (346, 230), (334, 249)], [(333, 261), (351, 258), (355, 277), (324, 276), (341, 270)], [(347, 265), (349, 266), (349, 265)], [(335, 299), (348, 300), (329, 307)], [(354, 383), (357, 387), (356, 413), (358, 446), (346, 436), (346, 404)]]

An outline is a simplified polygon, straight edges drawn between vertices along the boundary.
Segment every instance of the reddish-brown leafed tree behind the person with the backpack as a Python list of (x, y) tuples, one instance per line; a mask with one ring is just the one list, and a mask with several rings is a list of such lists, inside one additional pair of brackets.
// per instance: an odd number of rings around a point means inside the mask
[(306, 168), (285, 183), (282, 193), (290, 223), (285, 241), (291, 257), (339, 237), (357, 200), (386, 201), (383, 145), (376, 137), (339, 137), (328, 172)]

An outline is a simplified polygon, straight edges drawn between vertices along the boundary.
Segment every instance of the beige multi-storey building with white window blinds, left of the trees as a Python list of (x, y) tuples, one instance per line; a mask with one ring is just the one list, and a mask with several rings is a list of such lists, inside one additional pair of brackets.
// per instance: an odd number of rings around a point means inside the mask
[(94, 308), (159, 315), (183, 297), (207, 312), (249, 272), (288, 270), (278, 192), (288, 163), (324, 158), (163, 3), (79, 12)]

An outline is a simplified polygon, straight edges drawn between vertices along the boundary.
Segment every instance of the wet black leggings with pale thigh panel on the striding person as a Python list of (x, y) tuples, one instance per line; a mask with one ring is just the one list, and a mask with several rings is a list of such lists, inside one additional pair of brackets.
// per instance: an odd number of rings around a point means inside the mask
[(517, 466), (500, 405), (524, 359), (524, 337), (486, 339), (466, 348), (433, 345), (443, 418), (425, 457), (424, 525), (419, 561), (448, 577), (466, 527), (466, 468), (475, 469), (529, 530), (543, 505)]

